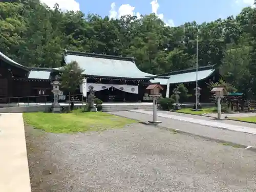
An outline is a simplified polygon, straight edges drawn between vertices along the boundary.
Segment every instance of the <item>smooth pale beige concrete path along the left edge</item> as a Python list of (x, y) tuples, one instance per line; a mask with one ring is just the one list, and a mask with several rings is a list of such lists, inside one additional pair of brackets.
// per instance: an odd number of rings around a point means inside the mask
[(0, 116), (0, 191), (30, 192), (22, 113)]

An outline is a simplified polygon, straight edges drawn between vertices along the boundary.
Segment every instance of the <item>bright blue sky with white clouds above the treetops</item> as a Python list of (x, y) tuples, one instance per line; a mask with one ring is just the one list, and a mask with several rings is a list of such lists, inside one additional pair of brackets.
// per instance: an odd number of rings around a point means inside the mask
[(253, 0), (41, 0), (41, 2), (50, 7), (58, 3), (62, 9), (78, 9), (85, 14), (96, 13), (101, 16), (112, 15), (112, 17), (127, 13), (137, 15), (155, 12), (170, 26), (179, 26), (193, 20), (202, 23), (237, 15), (244, 7), (251, 6)]

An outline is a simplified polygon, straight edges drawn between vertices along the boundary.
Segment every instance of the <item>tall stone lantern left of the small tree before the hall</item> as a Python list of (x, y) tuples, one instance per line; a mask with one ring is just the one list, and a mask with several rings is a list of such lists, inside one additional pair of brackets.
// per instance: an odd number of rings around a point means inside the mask
[(52, 93), (54, 95), (53, 103), (52, 103), (52, 112), (61, 113), (61, 106), (58, 102), (59, 94), (61, 94), (61, 91), (59, 90), (59, 86), (61, 85), (61, 82), (59, 82), (59, 79), (57, 76), (55, 77), (55, 80), (51, 83), (51, 85), (52, 85)]

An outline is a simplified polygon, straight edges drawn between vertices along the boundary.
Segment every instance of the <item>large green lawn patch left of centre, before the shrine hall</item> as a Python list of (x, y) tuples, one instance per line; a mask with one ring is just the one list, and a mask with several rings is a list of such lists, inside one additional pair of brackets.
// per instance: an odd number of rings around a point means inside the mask
[(76, 110), (72, 113), (24, 113), (24, 122), (35, 129), (41, 129), (50, 133), (76, 133), (87, 131), (104, 131), (118, 129), (126, 124), (138, 121), (114, 116), (103, 112), (82, 113)]

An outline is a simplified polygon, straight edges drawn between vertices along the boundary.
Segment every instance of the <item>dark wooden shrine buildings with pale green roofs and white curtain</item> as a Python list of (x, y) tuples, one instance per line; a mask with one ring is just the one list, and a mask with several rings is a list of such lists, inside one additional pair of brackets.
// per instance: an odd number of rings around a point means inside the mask
[[(195, 92), (196, 69), (152, 75), (140, 71), (134, 58), (65, 50), (61, 66), (71, 61), (76, 61), (84, 70), (82, 74), (87, 79), (87, 90), (93, 86), (96, 97), (103, 102), (151, 101), (145, 89), (152, 83), (161, 84), (163, 97), (170, 97), (180, 83), (185, 84), (189, 94)], [(60, 75), (60, 69), (26, 67), (0, 52), (0, 102), (52, 102), (51, 82)], [(207, 83), (219, 78), (215, 66), (198, 68), (201, 102), (207, 102), (211, 95)], [(64, 91), (60, 100), (65, 102), (68, 94)], [(79, 87), (74, 94), (81, 94)], [(195, 97), (189, 100), (195, 101)]]

